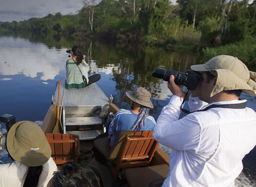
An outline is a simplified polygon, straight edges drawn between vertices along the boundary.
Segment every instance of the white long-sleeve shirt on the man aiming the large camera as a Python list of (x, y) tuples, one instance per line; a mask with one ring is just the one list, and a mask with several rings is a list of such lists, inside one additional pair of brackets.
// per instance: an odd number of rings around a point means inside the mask
[[(241, 102), (246, 100), (209, 105)], [(256, 145), (255, 111), (212, 108), (178, 120), (181, 103), (180, 97), (171, 97), (153, 132), (159, 143), (173, 149), (163, 187), (234, 187), (243, 157)]]

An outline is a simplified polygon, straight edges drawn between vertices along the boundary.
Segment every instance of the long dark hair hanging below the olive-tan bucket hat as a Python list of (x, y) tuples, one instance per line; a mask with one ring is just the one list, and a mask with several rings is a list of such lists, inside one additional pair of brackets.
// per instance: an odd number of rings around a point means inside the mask
[(43, 165), (37, 167), (29, 167), (28, 174), (23, 187), (37, 187), (39, 177), (43, 171)]

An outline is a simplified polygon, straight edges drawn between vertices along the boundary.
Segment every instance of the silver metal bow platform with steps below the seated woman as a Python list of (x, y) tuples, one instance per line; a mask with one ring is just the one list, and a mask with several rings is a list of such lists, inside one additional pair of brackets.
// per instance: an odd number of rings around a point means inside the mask
[[(106, 128), (99, 118), (99, 112), (109, 98), (93, 83), (85, 88), (65, 89), (65, 80), (60, 80), (60, 106), (63, 106), (64, 133), (77, 134), (80, 140), (92, 140)], [(58, 85), (52, 97), (52, 103), (58, 103)]]

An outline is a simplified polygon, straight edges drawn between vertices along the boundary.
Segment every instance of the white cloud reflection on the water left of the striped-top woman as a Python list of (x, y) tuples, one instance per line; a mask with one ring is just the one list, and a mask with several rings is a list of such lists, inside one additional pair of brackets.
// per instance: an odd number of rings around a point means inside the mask
[(64, 70), (66, 56), (55, 52), (55, 48), (48, 49), (41, 43), (31, 43), (21, 38), (0, 37), (0, 74), (24, 74), (41, 80), (53, 80), (61, 70)]

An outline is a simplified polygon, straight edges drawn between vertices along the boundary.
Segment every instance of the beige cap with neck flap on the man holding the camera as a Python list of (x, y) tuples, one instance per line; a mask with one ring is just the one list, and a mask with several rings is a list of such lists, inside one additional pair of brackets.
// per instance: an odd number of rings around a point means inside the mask
[(194, 71), (210, 71), (217, 77), (211, 96), (228, 90), (242, 90), (256, 95), (256, 73), (249, 71), (237, 57), (219, 55), (204, 64), (191, 65), (190, 68)]

